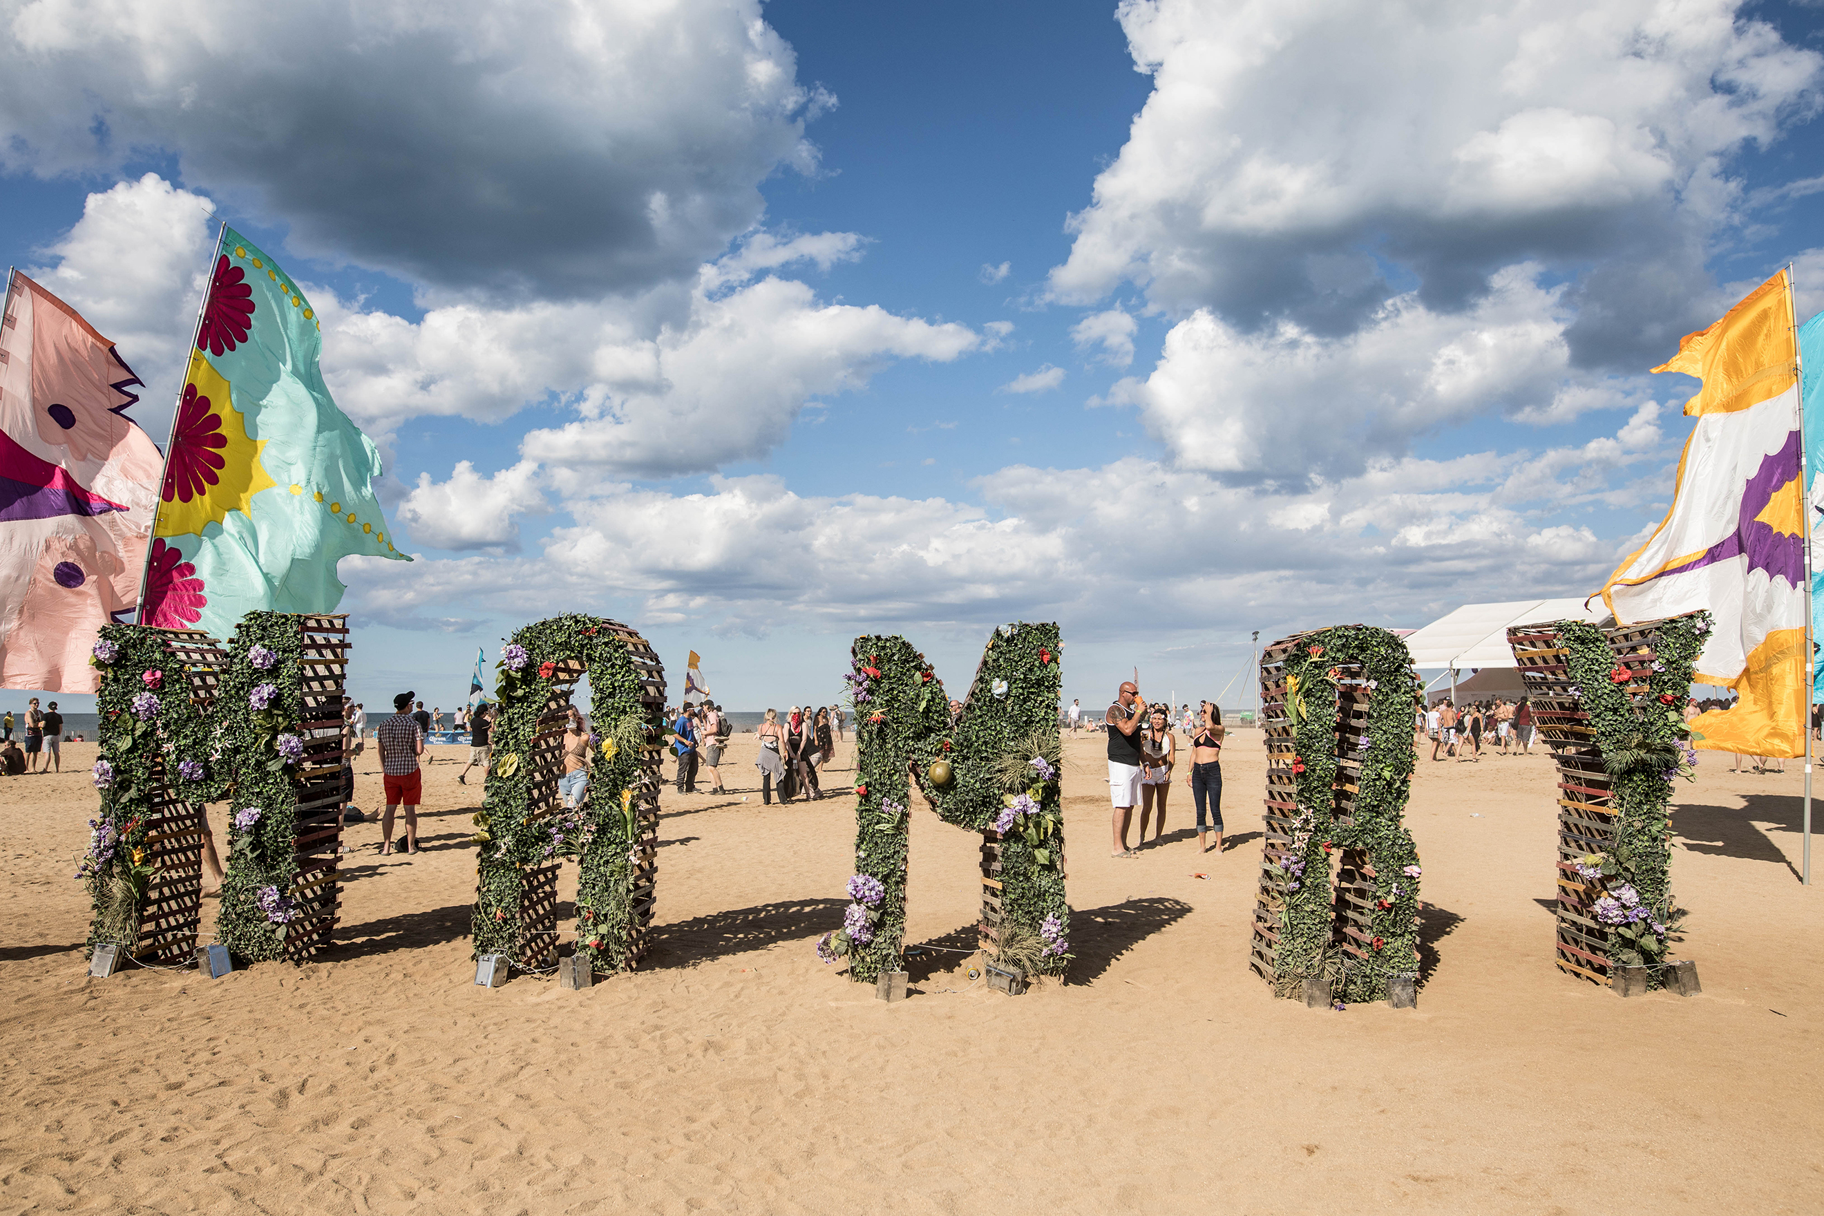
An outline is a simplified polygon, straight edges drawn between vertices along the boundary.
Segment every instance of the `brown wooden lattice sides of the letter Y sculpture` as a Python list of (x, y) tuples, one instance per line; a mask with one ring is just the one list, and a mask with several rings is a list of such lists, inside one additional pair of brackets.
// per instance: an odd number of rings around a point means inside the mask
[[(1583, 882), (1576, 862), (1589, 853), (1614, 848), (1614, 782), (1596, 751), (1596, 727), (1583, 702), (1570, 695), (1565, 622), (1512, 625), (1507, 642), (1514, 649), (1519, 678), (1527, 685), (1538, 737), (1558, 762), (1558, 970), (1607, 986), (1611, 933), (1596, 919), (1600, 891)], [(1654, 636), (1660, 622), (1605, 627), (1614, 667), (1625, 667), (1632, 680), (1629, 696), (1643, 693), (1654, 664)]]

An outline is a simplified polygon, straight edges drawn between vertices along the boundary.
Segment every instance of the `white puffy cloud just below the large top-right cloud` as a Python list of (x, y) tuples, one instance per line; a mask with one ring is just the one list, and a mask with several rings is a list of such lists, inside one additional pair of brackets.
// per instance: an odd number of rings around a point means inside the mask
[(1107, 401), (1138, 407), (1180, 467), (1273, 481), (1357, 476), (1485, 412), (1558, 423), (1638, 408), (1645, 377), (1570, 368), (1561, 295), (1538, 266), (1514, 266), (1468, 312), (1399, 295), (1335, 339), (1293, 321), (1249, 334), (1198, 310), (1166, 335), (1153, 374)]

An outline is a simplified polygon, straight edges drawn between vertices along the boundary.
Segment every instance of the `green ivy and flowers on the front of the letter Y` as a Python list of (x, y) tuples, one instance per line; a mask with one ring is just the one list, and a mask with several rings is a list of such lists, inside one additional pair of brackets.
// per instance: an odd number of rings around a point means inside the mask
[[(1620, 669), (1609, 647), (1609, 633), (1589, 622), (1560, 622), (1569, 651), (1565, 675), (1576, 685), (1576, 700), (1589, 713), (1594, 729), (1592, 757), (1616, 760), (1640, 757), (1638, 764), (1611, 764), (1614, 789), (1614, 851), (1601, 859), (1605, 890), (1629, 884), (1640, 902), (1653, 910), (1647, 926), (1623, 926), (1614, 932), (1614, 955), (1620, 963), (1653, 964), (1665, 959), (1667, 943), (1674, 937), (1680, 910), (1673, 904), (1671, 864), (1673, 828), (1671, 793), (1678, 773), (1689, 773), (1696, 753), (1689, 749), (1691, 727), (1684, 706), (1691, 696), (1691, 676), (1696, 669), (1704, 640), (1711, 631), (1709, 613), (1673, 616), (1654, 627), (1645, 689), (1640, 673), (1625, 680), (1611, 678)], [(1674, 751), (1676, 749), (1676, 751)], [(1658, 757), (1684, 753), (1684, 764), (1662, 762)], [(1614, 771), (1620, 768), (1622, 771)], [(1660, 986), (1658, 972), (1649, 972), (1649, 988)]]

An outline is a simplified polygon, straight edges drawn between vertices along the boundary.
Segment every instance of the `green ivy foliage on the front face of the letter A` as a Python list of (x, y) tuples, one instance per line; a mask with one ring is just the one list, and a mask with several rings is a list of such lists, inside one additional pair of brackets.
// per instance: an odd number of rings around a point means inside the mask
[[(633, 926), (638, 840), (637, 786), (644, 755), (662, 747), (662, 707), (648, 716), (640, 675), (624, 638), (598, 616), (553, 616), (525, 625), (509, 645), (525, 651), (525, 664), (496, 664), (494, 757), (482, 811), (474, 817), (480, 848), (474, 902), (474, 952), (514, 955), (522, 930), (520, 901), (527, 868), (575, 857), (576, 953), (598, 972), (626, 972)], [(503, 651), (505, 654), (505, 651)], [(589, 676), (589, 726), (595, 766), (584, 806), (576, 813), (540, 815), (533, 806), (533, 737), (545, 713), (556, 665), (578, 660)]]

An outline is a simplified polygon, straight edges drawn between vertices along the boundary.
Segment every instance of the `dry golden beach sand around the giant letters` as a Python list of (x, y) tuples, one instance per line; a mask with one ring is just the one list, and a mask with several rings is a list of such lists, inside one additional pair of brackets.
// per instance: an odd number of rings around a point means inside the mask
[[(1133, 860), (1107, 855), (1102, 742), (1071, 740), (1071, 983), (1005, 997), (941, 955), (897, 1005), (812, 952), (841, 921), (852, 799), (762, 808), (753, 737), (724, 766), (735, 795), (666, 791), (646, 970), (476, 988), (480, 791), (438, 751), (425, 853), (350, 830), (325, 959), (217, 981), (86, 977), (69, 875), (93, 746), (0, 782), (0, 1212), (1824, 1209), (1798, 764), (1731, 777), (1705, 755), (1680, 786), (1704, 995), (1623, 1001), (1550, 963), (1550, 758), (1421, 762), (1419, 1008), (1339, 1014), (1246, 968), (1255, 733), (1226, 760), (1231, 850), (1197, 855), (1178, 786)], [(378, 795), (363, 773), (359, 804)], [(914, 822), (910, 941), (967, 946), (976, 837)]]

